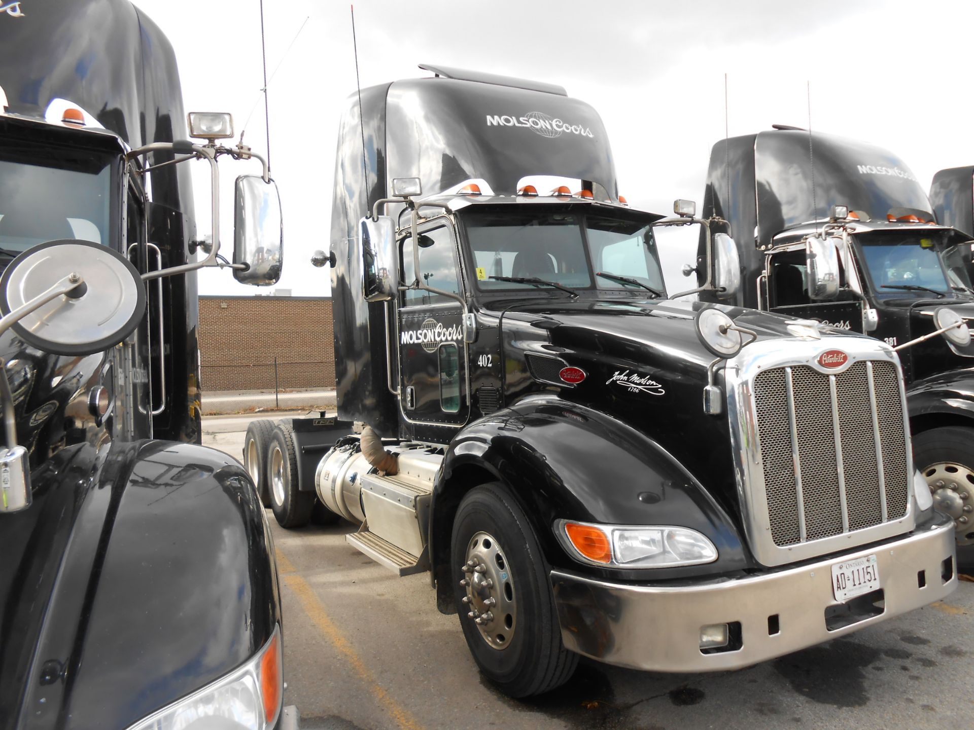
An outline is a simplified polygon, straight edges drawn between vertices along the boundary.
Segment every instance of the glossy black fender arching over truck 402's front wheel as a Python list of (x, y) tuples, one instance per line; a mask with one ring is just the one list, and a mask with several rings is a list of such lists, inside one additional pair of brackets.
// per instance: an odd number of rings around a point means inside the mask
[[(610, 580), (657, 581), (755, 565), (731, 516), (653, 439), (577, 403), (532, 396), (470, 423), (443, 459), (433, 487), (430, 529), (432, 579), (441, 610), (452, 603), (447, 584), (453, 516), (469, 489), (491, 481), (503, 482), (524, 508), (552, 567)], [(713, 541), (719, 557), (709, 565), (677, 568), (582, 565), (557, 541), (553, 526), (558, 519), (692, 528)]]

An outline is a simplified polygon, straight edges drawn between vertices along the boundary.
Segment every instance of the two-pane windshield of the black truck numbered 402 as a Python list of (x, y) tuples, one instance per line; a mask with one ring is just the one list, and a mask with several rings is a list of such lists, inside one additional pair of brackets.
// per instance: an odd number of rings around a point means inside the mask
[(656, 239), (649, 223), (575, 212), (470, 211), (467, 240), (481, 291), (535, 288), (492, 276), (539, 278), (572, 289), (642, 287), (594, 274), (633, 278), (663, 289)]

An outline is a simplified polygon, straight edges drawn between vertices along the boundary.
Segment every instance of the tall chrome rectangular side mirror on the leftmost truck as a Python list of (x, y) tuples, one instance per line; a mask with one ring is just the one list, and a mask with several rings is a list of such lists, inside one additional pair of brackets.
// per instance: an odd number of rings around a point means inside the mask
[(234, 278), (242, 284), (270, 286), (281, 278), (283, 232), (278, 185), (260, 175), (241, 175), (234, 193)]

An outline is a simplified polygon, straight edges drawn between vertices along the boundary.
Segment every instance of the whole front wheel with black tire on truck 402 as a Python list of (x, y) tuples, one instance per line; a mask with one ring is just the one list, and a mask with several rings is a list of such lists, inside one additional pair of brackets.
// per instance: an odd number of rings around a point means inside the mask
[(575, 672), (534, 529), (503, 485), (471, 490), (453, 524), (450, 571), (474, 661), (502, 692), (529, 697)]

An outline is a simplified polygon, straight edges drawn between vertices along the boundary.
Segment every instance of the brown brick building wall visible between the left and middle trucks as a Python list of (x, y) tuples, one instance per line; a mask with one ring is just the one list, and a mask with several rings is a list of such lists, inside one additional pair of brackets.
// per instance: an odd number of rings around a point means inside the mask
[(200, 297), (200, 378), (206, 390), (335, 386), (331, 299)]

